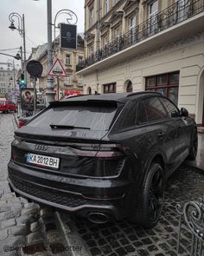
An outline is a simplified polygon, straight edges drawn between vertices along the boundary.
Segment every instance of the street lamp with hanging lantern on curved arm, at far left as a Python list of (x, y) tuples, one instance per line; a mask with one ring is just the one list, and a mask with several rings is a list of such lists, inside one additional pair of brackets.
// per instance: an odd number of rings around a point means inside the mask
[[(15, 18), (17, 20), (17, 28), (15, 26)], [(23, 73), (25, 77), (25, 82), (27, 81), (27, 72), (26, 72), (26, 44), (25, 44), (25, 22), (24, 22), (24, 14), (22, 16), (17, 12), (11, 12), (9, 16), (10, 20), (10, 30), (17, 30), (19, 34), (22, 36), (23, 40)], [(19, 56), (19, 54), (18, 54)], [(20, 57), (20, 56), (19, 56)]]

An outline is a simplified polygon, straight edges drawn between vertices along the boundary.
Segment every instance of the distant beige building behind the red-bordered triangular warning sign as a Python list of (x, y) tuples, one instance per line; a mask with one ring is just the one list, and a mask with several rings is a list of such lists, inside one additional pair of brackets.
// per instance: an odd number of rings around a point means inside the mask
[[(78, 47), (77, 49), (65, 49), (60, 47), (59, 37), (56, 38), (53, 43), (53, 62), (56, 58), (61, 61), (62, 66), (64, 67), (67, 76), (59, 78), (59, 96), (64, 97), (67, 95), (67, 92), (70, 91), (79, 91), (83, 92), (83, 82), (81, 75), (76, 75), (76, 65), (84, 60), (84, 39), (82, 36), (78, 36)], [(35, 59), (41, 62), (42, 65), (42, 74), (41, 77), (36, 82), (36, 89), (38, 94), (43, 94), (45, 98), (46, 89), (47, 89), (47, 79), (48, 79), (48, 49), (47, 43), (39, 45), (36, 49), (32, 50), (29, 60)], [(34, 81), (29, 77), (29, 86), (33, 87)], [(57, 95), (57, 79), (54, 77), (54, 91)], [(55, 97), (56, 98), (56, 97)]]

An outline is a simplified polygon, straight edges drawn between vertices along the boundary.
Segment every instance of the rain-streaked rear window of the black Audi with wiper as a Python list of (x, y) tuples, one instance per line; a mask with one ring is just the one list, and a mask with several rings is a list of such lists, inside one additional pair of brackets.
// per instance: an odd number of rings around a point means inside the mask
[(28, 127), (50, 128), (50, 125), (73, 126), (77, 128), (90, 128), (91, 130), (108, 130), (117, 105), (67, 105), (48, 108), (33, 121)]

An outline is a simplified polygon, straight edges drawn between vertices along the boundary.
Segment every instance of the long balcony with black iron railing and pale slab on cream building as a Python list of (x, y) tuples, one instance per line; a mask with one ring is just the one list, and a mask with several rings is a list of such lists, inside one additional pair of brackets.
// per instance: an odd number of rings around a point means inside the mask
[(80, 62), (76, 70), (78, 74), (85, 75), (91, 70), (103, 69), (107, 59), (109, 66), (116, 64), (125, 58), (169, 43), (172, 39), (201, 31), (203, 23), (204, 0), (180, 0), (106, 44)]

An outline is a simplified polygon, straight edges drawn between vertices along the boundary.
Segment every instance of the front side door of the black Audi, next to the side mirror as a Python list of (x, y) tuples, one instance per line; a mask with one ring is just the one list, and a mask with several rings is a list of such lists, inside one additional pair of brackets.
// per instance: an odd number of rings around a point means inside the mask
[(179, 109), (173, 102), (170, 102), (167, 98), (161, 98), (163, 105), (168, 109), (169, 118), (175, 124), (175, 133), (177, 136), (176, 142), (176, 161), (181, 161), (188, 154), (188, 148), (190, 145), (190, 130), (188, 125), (188, 117), (180, 115)]

